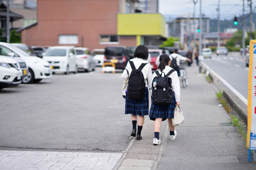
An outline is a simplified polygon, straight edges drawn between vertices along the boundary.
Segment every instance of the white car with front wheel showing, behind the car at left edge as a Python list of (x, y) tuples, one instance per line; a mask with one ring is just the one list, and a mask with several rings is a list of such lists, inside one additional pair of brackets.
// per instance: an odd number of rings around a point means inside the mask
[(28, 66), (28, 72), (26, 76), (22, 78), (22, 83), (37, 83), (42, 79), (48, 79), (51, 77), (50, 65), (45, 60), (31, 56), (28, 52), (25, 52), (9, 43), (0, 42), (0, 45), (8, 48), (10, 51), (9, 54), (14, 55), (14, 57), (21, 57), (21, 59), (25, 60)]

